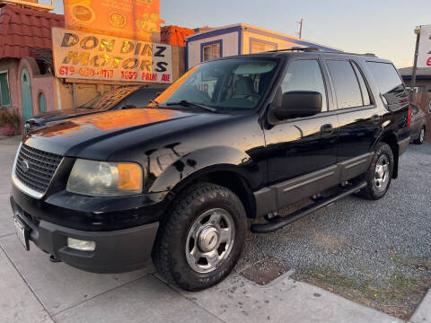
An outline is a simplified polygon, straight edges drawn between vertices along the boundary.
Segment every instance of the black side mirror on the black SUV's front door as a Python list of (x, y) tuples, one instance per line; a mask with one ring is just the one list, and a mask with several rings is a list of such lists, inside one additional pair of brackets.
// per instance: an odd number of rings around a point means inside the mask
[(321, 112), (322, 98), (319, 92), (293, 91), (283, 93), (281, 105), (272, 107), (279, 120), (311, 117)]

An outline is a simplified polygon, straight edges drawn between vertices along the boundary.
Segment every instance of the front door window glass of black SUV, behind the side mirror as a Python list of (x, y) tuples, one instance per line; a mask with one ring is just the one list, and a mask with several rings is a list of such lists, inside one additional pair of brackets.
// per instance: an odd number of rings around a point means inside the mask
[(321, 111), (328, 111), (325, 83), (317, 60), (297, 60), (289, 65), (285, 79), (281, 84), (281, 90), (283, 93), (294, 91), (319, 92), (322, 99)]

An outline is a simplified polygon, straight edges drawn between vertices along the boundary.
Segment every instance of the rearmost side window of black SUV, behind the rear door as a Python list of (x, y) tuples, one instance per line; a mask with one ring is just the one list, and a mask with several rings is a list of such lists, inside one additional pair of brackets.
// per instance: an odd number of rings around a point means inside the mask
[(400, 75), (389, 63), (366, 62), (383, 96), (383, 103), (391, 110), (400, 109), (409, 102)]

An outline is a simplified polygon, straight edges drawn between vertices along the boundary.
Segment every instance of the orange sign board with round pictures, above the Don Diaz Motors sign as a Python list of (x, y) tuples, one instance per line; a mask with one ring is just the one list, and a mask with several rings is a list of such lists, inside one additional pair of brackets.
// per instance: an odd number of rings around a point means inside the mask
[(160, 0), (64, 0), (67, 29), (160, 39)]

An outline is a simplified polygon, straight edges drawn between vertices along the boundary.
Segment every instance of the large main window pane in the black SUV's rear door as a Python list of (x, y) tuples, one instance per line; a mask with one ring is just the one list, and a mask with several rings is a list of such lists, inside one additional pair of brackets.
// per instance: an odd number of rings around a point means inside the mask
[(327, 65), (334, 82), (339, 109), (363, 106), (361, 89), (350, 62), (328, 60)]

